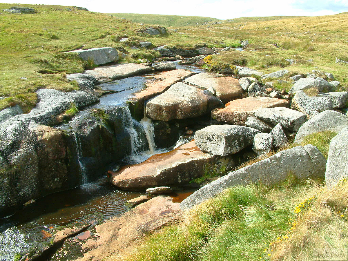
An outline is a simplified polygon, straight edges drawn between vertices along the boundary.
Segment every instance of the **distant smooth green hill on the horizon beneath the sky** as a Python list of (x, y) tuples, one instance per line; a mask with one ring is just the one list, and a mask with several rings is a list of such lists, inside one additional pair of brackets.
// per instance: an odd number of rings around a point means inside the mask
[(153, 24), (165, 27), (199, 26), (207, 22), (222, 21), (211, 17), (180, 16), (180, 15), (151, 15), (151, 14), (119, 14), (110, 13), (114, 17), (125, 18), (135, 23)]

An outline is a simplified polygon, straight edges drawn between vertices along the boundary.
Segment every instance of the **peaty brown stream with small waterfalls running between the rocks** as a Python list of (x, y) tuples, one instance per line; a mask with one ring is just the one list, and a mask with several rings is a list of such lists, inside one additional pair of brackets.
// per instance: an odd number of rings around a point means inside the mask
[[(186, 69), (193, 72), (206, 72), (194, 65), (177, 65), (177, 69)], [(172, 148), (157, 149), (154, 142), (153, 125), (150, 119), (144, 118), (140, 122), (136, 121), (130, 115), (127, 100), (135, 92), (144, 88), (145, 82), (151, 80), (156, 73), (143, 76), (134, 76), (121, 80), (116, 80), (99, 85), (102, 89), (112, 90), (114, 93), (103, 95), (100, 102), (84, 108), (70, 121), (61, 126), (59, 129), (71, 131), (71, 126), (81, 117), (89, 115), (91, 110), (107, 109), (114, 106), (122, 107), (122, 124), (130, 134), (132, 152), (130, 156), (122, 159), (118, 164), (131, 165), (141, 163), (150, 156), (164, 153)], [(142, 141), (137, 132), (141, 127), (146, 135), (146, 142), (149, 149), (142, 151)], [(7, 216), (0, 220), (0, 261), (13, 261), (16, 253), (19, 253), (30, 247), (33, 238), (39, 236), (42, 228), (62, 226), (76, 222), (77, 220), (89, 214), (100, 213), (103, 219), (113, 217), (124, 213), (128, 208), (124, 203), (130, 199), (145, 195), (144, 191), (123, 191), (110, 184), (106, 176), (90, 182), (85, 171), (85, 163), (81, 152), (81, 137), (73, 133), (73, 139), (78, 153), (78, 164), (83, 185), (61, 192), (52, 193), (48, 196), (35, 200), (32, 204), (26, 206), (23, 210)], [(193, 190), (183, 190), (172, 193), (170, 196), (173, 202), (181, 202), (188, 197)]]

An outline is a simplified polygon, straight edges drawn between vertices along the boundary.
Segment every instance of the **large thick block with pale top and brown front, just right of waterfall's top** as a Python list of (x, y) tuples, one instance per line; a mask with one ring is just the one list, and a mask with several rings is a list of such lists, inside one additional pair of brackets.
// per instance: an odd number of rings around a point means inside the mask
[(177, 82), (147, 103), (146, 114), (153, 120), (169, 121), (202, 116), (221, 106), (219, 98), (208, 90)]

